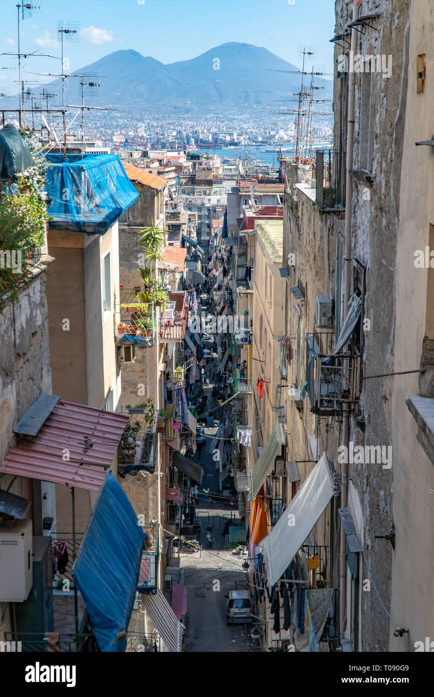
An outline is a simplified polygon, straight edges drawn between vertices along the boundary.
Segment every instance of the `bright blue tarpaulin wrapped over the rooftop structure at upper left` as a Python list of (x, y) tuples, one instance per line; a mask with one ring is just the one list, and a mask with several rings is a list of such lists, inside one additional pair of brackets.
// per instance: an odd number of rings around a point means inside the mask
[(49, 227), (104, 234), (139, 198), (118, 155), (47, 155)]

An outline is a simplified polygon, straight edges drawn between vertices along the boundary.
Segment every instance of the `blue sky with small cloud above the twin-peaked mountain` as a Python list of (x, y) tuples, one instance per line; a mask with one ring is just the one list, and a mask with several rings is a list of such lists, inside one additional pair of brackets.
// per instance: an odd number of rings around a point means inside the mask
[[(1, 0), (0, 52), (17, 51), (17, 1)], [(78, 20), (79, 43), (65, 46), (70, 70), (104, 55), (132, 48), (144, 56), (173, 63), (194, 58), (226, 41), (264, 46), (300, 66), (297, 46), (318, 45), (318, 64), (332, 70), (333, 0), (33, 0), (40, 10), (22, 22), (23, 51), (60, 55), (58, 20)], [(0, 66), (15, 66), (0, 56)], [(27, 59), (24, 70), (59, 72), (51, 59)], [(24, 79), (39, 78), (29, 72)], [(16, 72), (0, 71), (0, 85), (13, 91)]]

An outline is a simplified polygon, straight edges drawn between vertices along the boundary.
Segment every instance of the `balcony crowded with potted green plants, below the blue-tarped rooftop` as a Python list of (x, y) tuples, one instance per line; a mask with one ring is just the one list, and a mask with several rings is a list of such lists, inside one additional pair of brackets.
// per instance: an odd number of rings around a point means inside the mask
[(153, 302), (139, 302), (135, 290), (123, 290), (118, 305), (120, 322), (116, 336), (135, 337), (131, 339), (135, 346), (153, 346), (155, 340), (155, 305)]

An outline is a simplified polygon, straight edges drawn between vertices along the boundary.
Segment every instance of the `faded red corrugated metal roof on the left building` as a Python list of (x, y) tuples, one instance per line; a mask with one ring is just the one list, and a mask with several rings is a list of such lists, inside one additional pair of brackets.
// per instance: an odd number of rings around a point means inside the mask
[(38, 434), (10, 451), (0, 472), (98, 491), (107, 474), (100, 468), (111, 465), (128, 419), (60, 400)]

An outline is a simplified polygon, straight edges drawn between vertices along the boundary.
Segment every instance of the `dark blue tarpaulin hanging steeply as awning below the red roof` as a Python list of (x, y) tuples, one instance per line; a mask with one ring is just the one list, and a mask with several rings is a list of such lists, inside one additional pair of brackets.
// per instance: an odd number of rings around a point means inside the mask
[(145, 535), (114, 475), (101, 487), (72, 577), (82, 593), (101, 651), (125, 651)]

